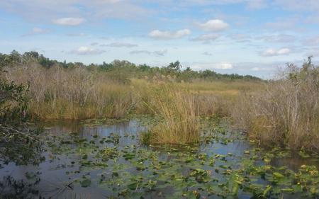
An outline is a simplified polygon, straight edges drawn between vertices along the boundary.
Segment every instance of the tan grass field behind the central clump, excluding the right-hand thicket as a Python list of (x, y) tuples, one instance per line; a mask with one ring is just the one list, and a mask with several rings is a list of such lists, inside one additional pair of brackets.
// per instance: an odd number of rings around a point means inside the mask
[[(6, 79), (30, 84), (30, 111), (42, 119), (122, 118), (128, 113), (152, 113), (145, 102), (152, 101), (161, 81), (114, 79), (114, 74), (84, 67), (44, 68), (35, 63), (7, 67)], [(196, 113), (227, 115), (241, 86), (227, 81), (172, 83), (196, 98)], [(167, 90), (165, 90), (167, 91)]]

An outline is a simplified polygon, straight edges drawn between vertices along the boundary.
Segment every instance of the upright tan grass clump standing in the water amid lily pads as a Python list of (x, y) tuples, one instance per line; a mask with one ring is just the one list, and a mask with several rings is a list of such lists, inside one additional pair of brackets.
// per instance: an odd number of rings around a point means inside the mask
[(199, 142), (199, 120), (193, 95), (172, 84), (152, 87), (148, 106), (162, 119), (151, 128), (151, 143), (185, 144)]

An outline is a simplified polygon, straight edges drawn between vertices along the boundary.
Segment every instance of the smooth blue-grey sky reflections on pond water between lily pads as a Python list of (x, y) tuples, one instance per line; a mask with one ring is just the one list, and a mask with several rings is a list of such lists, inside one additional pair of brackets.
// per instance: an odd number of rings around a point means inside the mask
[[(119, 149), (121, 147), (129, 146), (132, 144), (138, 145), (138, 132), (145, 130), (135, 120), (127, 122), (115, 123), (114, 125), (96, 125), (87, 126), (81, 125), (77, 122), (64, 121), (63, 123), (52, 123), (51, 127), (47, 127), (46, 131), (52, 134), (77, 132), (80, 137), (84, 137), (88, 140), (92, 140), (94, 135), (98, 135), (99, 138), (107, 137), (111, 134), (117, 134), (121, 136), (119, 140)], [(112, 147), (113, 144), (108, 143), (108, 146)], [(159, 148), (150, 148), (150, 150), (159, 150)], [(228, 144), (221, 144), (220, 142), (214, 142), (210, 144), (203, 144), (199, 147), (200, 153), (206, 153), (208, 156), (214, 156), (216, 154), (227, 155), (233, 154), (231, 157), (227, 157), (228, 164), (232, 164), (233, 169), (237, 168), (241, 157), (246, 150), (250, 150), (250, 144), (245, 140), (236, 140), (229, 142)], [(45, 153), (47, 157), (47, 153)], [(98, 174), (101, 174), (101, 170), (94, 171), (81, 171), (79, 174), (67, 175), (66, 171), (79, 171), (79, 165), (72, 165), (71, 161), (78, 161), (82, 157), (77, 156), (58, 156), (58, 160), (50, 161), (50, 158), (46, 158), (46, 161), (42, 162), (39, 166), (16, 166), (14, 164), (4, 165), (4, 169), (0, 169), (0, 178), (4, 176), (12, 176), (16, 179), (26, 179), (26, 172), (40, 171), (40, 183), (36, 187), (40, 193), (46, 198), (52, 196), (53, 198), (105, 198), (107, 192), (102, 188), (99, 188), (93, 183), (88, 188), (82, 188), (81, 186), (74, 186), (73, 190), (66, 185), (68, 181), (74, 178), (79, 178), (84, 174), (89, 174), (91, 178), (96, 178)], [(172, 157), (167, 152), (160, 152), (159, 159), (169, 161)], [(124, 161), (118, 161), (118, 164)], [(298, 157), (275, 159), (272, 162), (274, 166), (289, 166), (291, 169), (298, 170), (302, 164), (309, 163), (308, 160)], [(237, 165), (236, 165), (237, 164)], [(260, 163), (262, 164), (262, 163)], [(318, 163), (317, 163), (318, 164)], [(211, 169), (211, 168), (207, 168)], [(106, 169), (107, 170), (107, 169)], [(185, 167), (183, 173), (187, 173), (188, 170)], [(132, 171), (134, 172), (134, 171)], [(216, 174), (218, 176), (218, 174)], [(168, 191), (168, 190), (167, 190)], [(241, 195), (241, 198), (250, 198), (249, 195)]]

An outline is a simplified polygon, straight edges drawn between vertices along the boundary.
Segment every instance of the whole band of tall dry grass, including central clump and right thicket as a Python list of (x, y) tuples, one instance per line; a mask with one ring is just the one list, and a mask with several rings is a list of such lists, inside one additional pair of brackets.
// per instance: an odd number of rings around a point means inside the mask
[(310, 60), (264, 83), (122, 80), (121, 74), (96, 68), (47, 69), (33, 62), (6, 71), (0, 75), (9, 81), (29, 82), (30, 111), (42, 119), (155, 114), (162, 120), (152, 128), (151, 142), (177, 144), (198, 142), (198, 116), (231, 115), (261, 144), (319, 150), (319, 69)]

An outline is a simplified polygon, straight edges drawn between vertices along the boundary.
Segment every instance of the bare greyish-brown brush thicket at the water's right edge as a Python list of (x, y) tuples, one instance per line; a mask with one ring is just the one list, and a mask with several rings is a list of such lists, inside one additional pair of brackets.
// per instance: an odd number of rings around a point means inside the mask
[(319, 67), (289, 65), (284, 78), (264, 91), (242, 96), (233, 111), (235, 124), (261, 144), (319, 149)]

